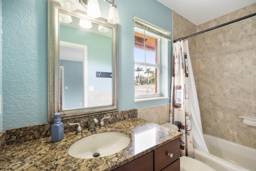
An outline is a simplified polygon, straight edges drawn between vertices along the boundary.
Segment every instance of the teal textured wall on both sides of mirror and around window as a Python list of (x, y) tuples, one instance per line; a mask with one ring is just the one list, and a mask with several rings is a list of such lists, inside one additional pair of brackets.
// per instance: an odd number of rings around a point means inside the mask
[[(98, 1), (101, 16), (106, 18), (109, 4)], [(115, 4), (120, 16), (119, 110), (170, 102), (134, 102), (133, 17), (138, 16), (172, 32), (172, 10), (156, 0), (116, 0)], [(46, 123), (47, 0), (4, 0), (2, 18), (2, 129)], [(171, 42), (168, 48), (170, 63)], [(168, 66), (170, 73), (170, 64)], [(168, 74), (168, 89), (170, 79)]]

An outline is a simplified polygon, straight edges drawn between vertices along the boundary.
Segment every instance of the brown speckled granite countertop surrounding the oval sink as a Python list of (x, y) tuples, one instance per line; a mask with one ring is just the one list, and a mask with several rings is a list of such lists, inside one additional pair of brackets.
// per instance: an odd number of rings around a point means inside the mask
[[(79, 159), (68, 155), (69, 147), (77, 140), (101, 132), (116, 131), (129, 135), (130, 144), (113, 155)], [(182, 133), (140, 118), (131, 118), (96, 131), (83, 130), (82, 135), (65, 133), (52, 142), (51, 137), (6, 146), (0, 155), (0, 170), (83, 170), (111, 171), (180, 137)], [(136, 137), (136, 138), (135, 138)]]

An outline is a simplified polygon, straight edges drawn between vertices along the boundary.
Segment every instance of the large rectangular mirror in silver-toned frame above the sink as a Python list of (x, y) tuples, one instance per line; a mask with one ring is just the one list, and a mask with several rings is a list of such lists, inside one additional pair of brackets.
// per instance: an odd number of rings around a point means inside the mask
[(118, 24), (48, 0), (48, 121), (118, 111)]

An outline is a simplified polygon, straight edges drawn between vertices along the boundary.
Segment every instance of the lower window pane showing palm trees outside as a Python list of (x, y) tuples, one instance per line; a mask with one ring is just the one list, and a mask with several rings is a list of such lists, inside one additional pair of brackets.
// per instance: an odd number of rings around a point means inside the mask
[(157, 68), (134, 65), (135, 95), (157, 93)]

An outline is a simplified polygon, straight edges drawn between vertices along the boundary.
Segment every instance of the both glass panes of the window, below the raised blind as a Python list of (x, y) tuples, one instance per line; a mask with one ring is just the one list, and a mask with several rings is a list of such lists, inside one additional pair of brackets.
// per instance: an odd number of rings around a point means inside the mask
[[(134, 41), (135, 96), (160, 96), (160, 38), (135, 31)], [(144, 49), (145, 48), (145, 49)]]

